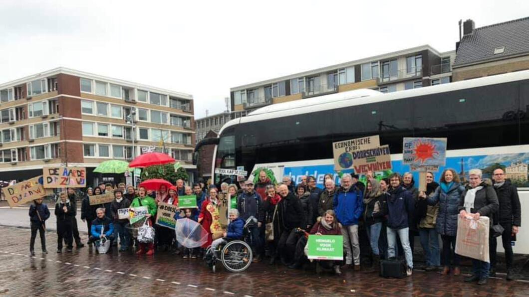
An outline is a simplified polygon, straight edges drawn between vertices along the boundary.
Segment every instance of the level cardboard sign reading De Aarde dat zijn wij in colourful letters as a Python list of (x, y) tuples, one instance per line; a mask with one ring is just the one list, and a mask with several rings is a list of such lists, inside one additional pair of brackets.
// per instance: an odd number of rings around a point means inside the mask
[(85, 188), (86, 168), (45, 167), (42, 169), (44, 188)]

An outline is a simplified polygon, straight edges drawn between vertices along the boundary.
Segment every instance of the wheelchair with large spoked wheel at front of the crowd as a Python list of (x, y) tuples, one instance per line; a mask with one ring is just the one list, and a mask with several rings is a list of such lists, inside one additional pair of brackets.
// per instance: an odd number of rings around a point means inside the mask
[[(249, 236), (248, 225), (252, 222), (255, 224), (254, 217), (248, 218), (244, 224), (244, 238)], [(216, 248), (209, 247), (204, 255), (204, 261), (211, 267), (213, 272), (216, 271), (216, 264), (218, 259), (221, 260), (222, 265), (230, 272), (243, 272), (250, 267), (253, 260), (252, 248), (243, 240), (229, 240), (227, 243), (222, 243)]]

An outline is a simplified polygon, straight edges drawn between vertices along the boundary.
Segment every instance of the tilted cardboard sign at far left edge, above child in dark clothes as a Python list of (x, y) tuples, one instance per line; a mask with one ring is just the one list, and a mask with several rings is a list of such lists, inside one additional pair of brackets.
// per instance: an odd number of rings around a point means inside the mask
[(26, 181), (10, 185), (9, 187), (2, 188), (4, 197), (9, 204), (9, 207), (15, 207), (32, 200), (42, 198), (46, 196), (46, 192), (39, 183), (39, 179), (42, 175)]

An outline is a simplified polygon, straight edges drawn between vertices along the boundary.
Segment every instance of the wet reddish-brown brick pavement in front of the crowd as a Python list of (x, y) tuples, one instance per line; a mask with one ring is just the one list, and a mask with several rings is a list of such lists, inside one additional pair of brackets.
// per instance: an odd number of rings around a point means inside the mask
[[(284, 266), (254, 263), (249, 270), (212, 273), (202, 260), (170, 253), (138, 257), (131, 253), (98, 255), (88, 247), (56, 254), (54, 232), (47, 233), (49, 254), (29, 256), (29, 229), (0, 227), (0, 295), (5, 296), (510, 296), (529, 295), (529, 282), (491, 279), (487, 286), (463, 283), (463, 276), (442, 277), (415, 271), (406, 279), (347, 271), (316, 275)], [(86, 238), (86, 237), (85, 237)]]

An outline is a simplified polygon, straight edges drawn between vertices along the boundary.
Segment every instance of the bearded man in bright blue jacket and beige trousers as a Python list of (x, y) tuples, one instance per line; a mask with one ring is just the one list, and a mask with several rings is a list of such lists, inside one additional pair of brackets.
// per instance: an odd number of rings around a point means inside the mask
[(343, 247), (345, 249), (345, 267), (353, 264), (354, 270), (360, 270), (360, 243), (358, 240), (358, 219), (362, 216), (362, 191), (353, 185), (351, 174), (342, 175), (340, 189), (334, 194), (334, 212), (342, 224)]

